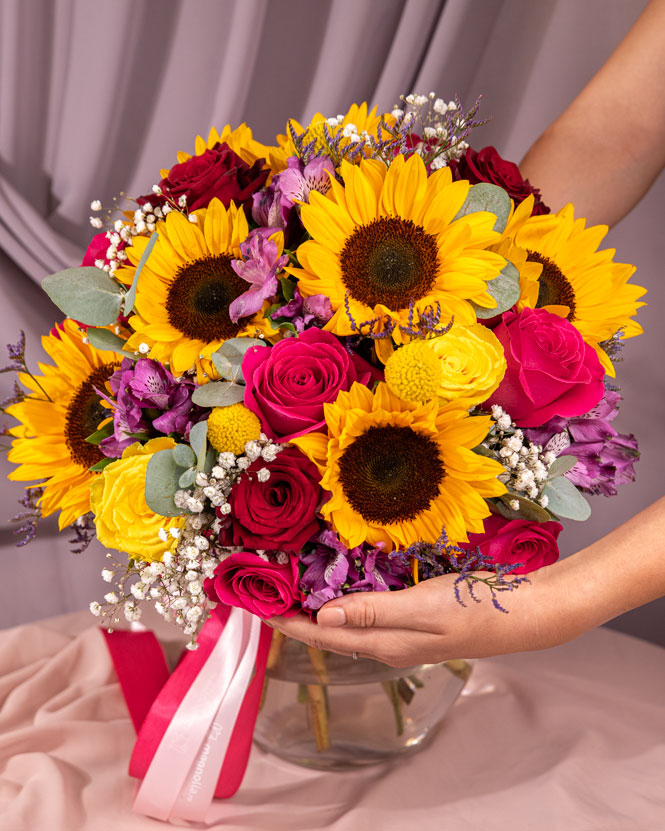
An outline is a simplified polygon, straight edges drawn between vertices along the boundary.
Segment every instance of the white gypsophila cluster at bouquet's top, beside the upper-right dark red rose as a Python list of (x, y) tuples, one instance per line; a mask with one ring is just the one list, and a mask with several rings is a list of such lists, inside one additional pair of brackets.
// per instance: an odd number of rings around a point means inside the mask
[[(457, 160), (468, 150), (469, 145), (464, 141), (468, 132), (467, 122), (455, 101), (444, 101), (437, 98), (436, 93), (417, 95), (411, 93), (402, 98), (403, 107), (395, 107), (392, 115), (395, 118), (404, 118), (416, 127), (423, 141), (419, 142), (414, 151), (419, 156), (432, 156), (429, 165), (432, 170), (446, 167), (449, 161)], [(436, 150), (432, 155), (432, 145)]]

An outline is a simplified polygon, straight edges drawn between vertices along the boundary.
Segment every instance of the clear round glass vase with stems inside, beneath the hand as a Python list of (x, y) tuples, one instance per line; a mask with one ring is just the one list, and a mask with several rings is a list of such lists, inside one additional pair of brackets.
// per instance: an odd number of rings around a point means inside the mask
[(434, 737), (471, 669), (467, 661), (395, 669), (275, 633), (254, 741), (320, 770), (406, 756)]

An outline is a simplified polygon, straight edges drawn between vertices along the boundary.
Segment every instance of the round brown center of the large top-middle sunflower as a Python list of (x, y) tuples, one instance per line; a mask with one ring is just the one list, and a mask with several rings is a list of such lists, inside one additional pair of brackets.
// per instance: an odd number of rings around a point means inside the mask
[(340, 258), (351, 296), (368, 306), (406, 309), (434, 285), (439, 268), (434, 237), (410, 219), (382, 217), (361, 225)]

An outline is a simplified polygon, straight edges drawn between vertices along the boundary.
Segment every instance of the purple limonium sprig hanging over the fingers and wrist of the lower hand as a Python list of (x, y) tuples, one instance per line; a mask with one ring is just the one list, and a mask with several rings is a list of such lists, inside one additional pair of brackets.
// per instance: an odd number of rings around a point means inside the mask
[[(462, 600), (462, 585), (466, 585), (471, 599), (480, 603), (481, 599), (475, 594), (475, 588), (478, 583), (484, 583), (490, 590), (494, 608), (508, 614), (508, 610), (499, 603), (498, 592), (514, 591), (522, 583), (529, 582), (524, 575), (512, 574), (524, 563), (498, 564), (484, 555), (479, 548), (465, 551), (450, 542), (445, 528), (441, 529), (441, 536), (436, 543), (416, 542), (404, 551), (393, 552), (392, 556), (409, 564), (412, 559), (416, 559), (419, 577), (422, 580), (443, 574), (457, 574), (453, 582), (453, 591), (455, 600), (464, 607), (466, 603)], [(476, 571), (489, 572), (489, 575), (484, 577), (476, 574)]]

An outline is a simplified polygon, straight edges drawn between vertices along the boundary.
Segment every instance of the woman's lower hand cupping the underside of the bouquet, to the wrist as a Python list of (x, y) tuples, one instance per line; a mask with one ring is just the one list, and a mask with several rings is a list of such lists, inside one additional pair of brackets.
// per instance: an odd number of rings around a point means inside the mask
[(545, 649), (584, 631), (579, 617), (576, 624), (576, 615), (568, 614), (565, 599), (556, 597), (563, 562), (555, 565), (558, 570), (541, 569), (528, 583), (498, 595), (508, 614), (492, 605), (484, 584), (474, 589), (479, 603), (463, 589), (462, 606), (451, 574), (402, 591), (336, 598), (319, 610), (316, 623), (304, 614), (268, 623), (317, 649), (357, 652), (395, 667)]

